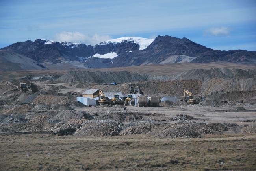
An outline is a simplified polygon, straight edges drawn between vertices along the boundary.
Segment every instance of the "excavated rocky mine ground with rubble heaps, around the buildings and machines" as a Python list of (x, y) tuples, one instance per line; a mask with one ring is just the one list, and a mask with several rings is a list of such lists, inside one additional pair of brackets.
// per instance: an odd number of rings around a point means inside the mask
[[(20, 82), (31, 85), (31, 90), (21, 91)], [(111, 85), (111, 82), (118, 84)], [(0, 130), (82, 136), (148, 134), (156, 138), (200, 138), (204, 134), (230, 131), (223, 121), (204, 122), (205, 114), (184, 114), (182, 111), (189, 111), (191, 106), (184, 101), (160, 103), (167, 108), (186, 107), (180, 110), (182, 113), (176, 113), (176, 116), (165, 113), (166, 111), (154, 111), (157, 108), (143, 112), (143, 108), (130, 107), (124, 110), (120, 105), (84, 107), (76, 101), (76, 96), (90, 88), (126, 93), (129, 86), (137, 85), (147, 96), (176, 96), (179, 100), (183, 98), (183, 89), (186, 88), (193, 92), (194, 97), (206, 98), (196, 107), (224, 107), (219, 112), (253, 113), (256, 104), (255, 70), (250, 69), (197, 69), (169, 76), (135, 72), (71, 71), (36, 79), (28, 76), (2, 81)], [(73, 88), (76, 89), (74, 93)], [(236, 108), (240, 106), (252, 109)], [(225, 109), (226, 107), (234, 108)], [(244, 131), (244, 126), (235, 126), (237, 128), (232, 127), (232, 130)]]

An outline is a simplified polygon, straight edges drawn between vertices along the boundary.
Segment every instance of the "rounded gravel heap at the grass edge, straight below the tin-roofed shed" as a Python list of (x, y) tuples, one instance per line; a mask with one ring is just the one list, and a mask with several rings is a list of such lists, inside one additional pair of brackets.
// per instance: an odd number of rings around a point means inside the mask
[(75, 135), (80, 136), (114, 136), (119, 135), (123, 124), (116, 121), (89, 120), (76, 130)]

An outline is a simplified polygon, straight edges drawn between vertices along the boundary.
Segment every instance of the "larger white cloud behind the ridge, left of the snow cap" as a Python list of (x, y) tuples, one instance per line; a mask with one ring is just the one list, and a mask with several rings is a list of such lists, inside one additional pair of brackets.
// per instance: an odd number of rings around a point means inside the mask
[(106, 40), (112, 39), (109, 35), (98, 35), (94, 34), (93, 36), (85, 35), (80, 32), (67, 32), (63, 31), (59, 34), (55, 35), (55, 40), (58, 42), (79, 42), (79, 43), (85, 43), (87, 45), (95, 45), (99, 44), (100, 42), (104, 42)]

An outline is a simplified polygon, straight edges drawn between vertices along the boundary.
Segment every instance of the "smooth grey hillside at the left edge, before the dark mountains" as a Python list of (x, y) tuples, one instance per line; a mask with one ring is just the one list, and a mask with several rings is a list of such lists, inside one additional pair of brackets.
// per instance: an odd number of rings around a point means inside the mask
[(42, 70), (43, 65), (17, 53), (0, 50), (0, 70)]

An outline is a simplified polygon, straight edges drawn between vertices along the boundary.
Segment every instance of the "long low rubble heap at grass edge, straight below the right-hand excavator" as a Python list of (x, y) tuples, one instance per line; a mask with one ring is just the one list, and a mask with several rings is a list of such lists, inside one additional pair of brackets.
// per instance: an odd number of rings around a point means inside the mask
[(156, 134), (156, 138), (200, 138), (202, 134), (213, 134), (227, 131), (220, 123), (184, 123), (167, 125)]

